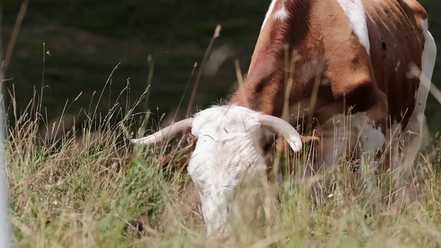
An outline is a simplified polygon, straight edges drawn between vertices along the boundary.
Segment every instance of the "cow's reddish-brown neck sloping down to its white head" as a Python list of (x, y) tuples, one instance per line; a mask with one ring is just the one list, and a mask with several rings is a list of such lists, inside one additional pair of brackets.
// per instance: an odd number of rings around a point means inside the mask
[(260, 30), (245, 85), (234, 94), (230, 104), (274, 116), (282, 114), (285, 61), (291, 63), (293, 48), (307, 34), (309, 6), (305, 0), (273, 0)]

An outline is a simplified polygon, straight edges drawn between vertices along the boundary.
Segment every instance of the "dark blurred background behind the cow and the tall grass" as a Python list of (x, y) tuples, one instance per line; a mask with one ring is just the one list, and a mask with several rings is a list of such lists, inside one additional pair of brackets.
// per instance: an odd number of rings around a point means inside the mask
[[(119, 99), (118, 96), (127, 80), (131, 104), (144, 92), (151, 56), (154, 68), (148, 104), (152, 117), (157, 119), (176, 110), (194, 63), (201, 65), (214, 29), (220, 24), (220, 37), (212, 50), (215, 55), (201, 78), (194, 112), (196, 106), (201, 109), (227, 97), (237, 79), (234, 59), (240, 62), (243, 73), (247, 71), (269, 3), (270, 0), (30, 1), (6, 74), (6, 79), (11, 80), (4, 83), (11, 91), (14, 86), (17, 107), (24, 110), (34, 91), (39, 94), (43, 82), (43, 109), (48, 120), (58, 118), (63, 111), (77, 114), (90, 105), (92, 109), (98, 105), (99, 111), (105, 113), (116, 101), (125, 106), (127, 94)], [(429, 12), (429, 29), (441, 50), (441, 1), (420, 3)], [(1, 2), (3, 52), (21, 4), (21, 0)], [(118, 63), (121, 64), (114, 71), (111, 87), (107, 86), (97, 103)], [(433, 74), (433, 83), (438, 87), (440, 65), (438, 59)], [(178, 118), (185, 115), (196, 72)], [(74, 102), (64, 110), (67, 101), (68, 105)], [(141, 110), (142, 107), (143, 104)], [(429, 96), (426, 113), (432, 132), (441, 129), (439, 110), (440, 103)]]

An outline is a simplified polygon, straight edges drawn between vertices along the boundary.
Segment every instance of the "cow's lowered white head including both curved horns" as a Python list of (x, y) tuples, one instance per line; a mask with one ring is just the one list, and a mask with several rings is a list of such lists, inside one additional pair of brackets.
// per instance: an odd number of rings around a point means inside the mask
[(282, 136), (294, 152), (302, 148), (298, 132), (283, 119), (236, 105), (207, 108), (132, 143), (158, 143), (190, 131), (197, 142), (187, 169), (201, 197), (207, 234), (218, 237), (229, 234), (225, 220), (239, 183), (266, 173), (267, 137)]

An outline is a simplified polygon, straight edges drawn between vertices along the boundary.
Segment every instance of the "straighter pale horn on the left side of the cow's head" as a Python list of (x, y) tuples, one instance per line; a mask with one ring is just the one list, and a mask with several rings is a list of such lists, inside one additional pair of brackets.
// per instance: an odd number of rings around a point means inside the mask
[(180, 132), (187, 133), (191, 131), (193, 120), (194, 118), (192, 117), (186, 118), (182, 121), (178, 121), (176, 123), (173, 123), (172, 125), (169, 125), (168, 127), (164, 127), (162, 130), (159, 130), (154, 134), (150, 134), (149, 136), (145, 136), (143, 138), (133, 138), (132, 143), (149, 145), (164, 140), (168, 141)]

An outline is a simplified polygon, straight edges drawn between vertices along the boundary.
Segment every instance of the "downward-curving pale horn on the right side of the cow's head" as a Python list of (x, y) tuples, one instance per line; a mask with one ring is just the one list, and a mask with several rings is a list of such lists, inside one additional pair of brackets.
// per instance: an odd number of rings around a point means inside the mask
[(260, 114), (257, 120), (260, 122), (260, 125), (267, 127), (276, 134), (282, 135), (294, 152), (298, 152), (302, 149), (302, 139), (297, 130), (286, 121), (283, 121), (282, 118), (268, 114)]

